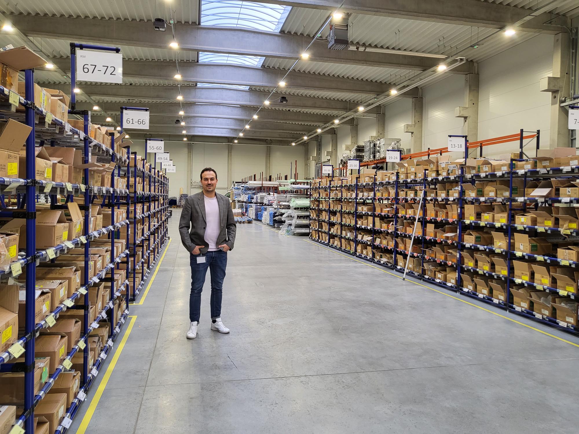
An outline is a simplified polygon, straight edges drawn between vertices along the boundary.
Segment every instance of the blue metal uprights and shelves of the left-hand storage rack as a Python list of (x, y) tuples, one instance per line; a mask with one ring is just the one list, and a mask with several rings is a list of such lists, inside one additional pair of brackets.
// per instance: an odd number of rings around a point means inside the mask
[[(109, 47), (102, 47), (109, 49)], [(74, 62), (74, 56), (73, 56)], [(41, 59), (41, 64), (44, 62)], [(74, 64), (74, 63), (73, 63)], [(73, 68), (74, 69), (74, 68)], [(25, 142), (25, 161), (21, 154), (21, 163), (25, 164), (24, 178), (0, 178), (0, 192), (2, 193), (3, 209), (0, 212), (2, 218), (25, 219), (25, 229), (21, 236), (26, 237), (25, 252), (19, 255), (10, 263), (7, 271), (0, 271), (0, 279), (12, 284), (14, 278), (21, 279), (25, 276), (23, 286), (24, 292), (24, 334), (18, 337), (18, 332), (2, 333), (2, 343), (9, 344), (10, 347), (0, 352), (0, 373), (23, 373), (24, 387), (19, 390), (19, 395), (23, 396), (23, 402), (19, 403), (19, 409), (23, 411), (16, 417), (15, 424), (10, 428), (10, 433), (33, 434), (35, 431), (35, 409), (39, 403), (43, 402), (47, 396), (52, 396), (48, 392), (53, 387), (58, 377), (64, 372), (69, 372), (73, 363), (72, 359), (75, 354), (82, 354), (82, 369), (80, 369), (81, 379), (78, 392), (72, 399), (71, 404), (62, 413), (57, 412), (56, 418), (51, 422), (51, 431), (61, 434), (67, 431), (72, 418), (77, 413), (80, 404), (86, 399), (89, 389), (94, 379), (101, 370), (109, 351), (111, 351), (120, 330), (129, 315), (129, 301), (133, 300), (144, 284), (148, 273), (159, 258), (167, 236), (167, 206), (168, 197), (168, 180), (162, 172), (151, 168), (144, 170), (145, 162), (141, 167), (134, 164), (136, 156), (131, 162), (130, 158), (115, 152), (114, 134), (111, 134), (109, 143), (97, 142), (89, 137), (89, 119), (88, 111), (69, 111), (72, 115), (79, 115), (83, 119), (83, 130), (71, 127), (71, 124), (57, 119), (47, 110), (41, 108), (41, 105), (35, 105), (34, 97), (36, 94), (34, 84), (33, 69), (26, 69), (25, 75), (25, 94), (18, 95), (14, 91), (0, 86), (0, 111), (4, 120), (14, 119), (25, 123), (31, 128), (30, 134)], [(73, 81), (74, 82), (74, 81)], [(74, 97), (74, 94), (73, 94)], [(74, 99), (73, 99), (74, 101)], [(63, 148), (76, 148), (82, 152), (83, 163), (89, 164), (90, 155), (97, 157), (100, 163), (117, 163), (111, 172), (111, 186), (93, 186), (89, 185), (89, 169), (83, 170), (83, 182), (53, 182), (43, 179), (36, 179), (36, 146), (60, 146)], [(130, 150), (127, 155), (130, 155)], [(124, 166), (123, 164), (126, 164)], [(133, 192), (128, 189), (115, 188), (115, 176), (126, 175), (131, 183), (137, 176), (142, 176), (142, 185), (148, 185), (148, 192), (140, 192), (133, 188)], [(58, 203), (57, 195), (65, 198), (64, 203), (74, 201), (74, 197), (83, 198), (82, 209), (84, 229), (83, 234), (72, 240), (63, 240), (61, 244), (46, 248), (40, 251), (36, 250), (36, 197), (43, 194), (50, 197), (51, 209), (62, 209), (63, 204)], [(16, 196), (16, 205), (14, 208), (6, 208), (6, 204), (14, 204), (9, 196)], [(77, 201), (78, 202), (78, 201)], [(91, 220), (91, 204), (98, 203), (101, 207), (111, 209), (111, 224), (102, 227), (102, 229), (89, 231)], [(130, 214), (130, 205), (133, 204), (133, 211), (137, 203), (147, 204), (148, 212), (141, 215), (135, 215), (132, 220), (123, 220), (115, 222), (114, 209), (126, 207), (127, 216)], [(65, 206), (65, 205), (64, 205)], [(135, 213), (136, 214), (136, 213)], [(153, 218), (153, 221), (151, 220)], [(146, 219), (146, 220), (145, 220)], [(146, 232), (143, 229), (140, 237), (135, 237), (137, 225), (140, 222), (142, 226), (146, 225)], [(115, 255), (115, 240), (119, 240), (121, 233), (126, 237), (125, 249), (120, 255)], [(130, 234), (133, 234), (133, 240), (130, 241)], [(102, 264), (101, 270), (92, 270), (94, 276), (89, 279), (89, 273), (84, 273), (84, 279), (80, 288), (72, 295), (68, 296), (57, 306), (52, 306), (52, 311), (43, 314), (43, 319), (36, 322), (37, 306), (36, 304), (36, 266), (41, 262), (54, 262), (57, 256), (67, 253), (75, 248), (82, 248), (84, 252), (84, 270), (89, 270), (90, 244), (91, 241), (106, 236), (110, 240), (111, 256), (110, 262)], [(63, 236), (64, 238), (64, 236)], [(68, 238), (68, 237), (67, 237)], [(141, 248), (142, 259), (135, 264), (134, 258), (131, 263), (131, 255), (137, 249)], [(122, 273), (121, 263), (126, 267), (126, 276), (123, 282), (115, 279), (116, 273)], [(146, 271), (144, 264), (146, 262)], [(140, 269), (141, 283), (135, 285), (135, 273)], [(23, 273), (24, 271), (24, 273)], [(119, 275), (119, 274), (118, 274)], [(130, 290), (130, 280), (132, 279), (132, 291)], [(92, 286), (99, 285), (99, 282), (109, 282), (110, 295), (107, 297), (108, 303), (102, 307), (100, 312), (96, 312), (93, 322), (89, 321), (89, 290)], [(108, 291), (108, 288), (107, 288)], [(123, 295), (126, 294), (126, 296)], [(82, 300), (82, 303), (75, 304), (75, 300)], [(56, 369), (50, 372), (48, 376), (35, 380), (35, 341), (37, 335), (47, 332), (54, 325), (59, 315), (67, 310), (80, 310), (83, 318), (83, 325), (80, 330), (80, 338), (74, 343), (70, 351), (61, 354), (60, 360), (56, 362)], [(94, 363), (89, 366), (89, 334), (93, 333), (99, 326), (99, 322), (108, 321), (108, 336), (106, 344), (102, 346), (100, 354), (94, 354)], [(16, 333), (17, 339), (14, 341), (13, 336)], [(40, 387), (38, 391), (35, 387)], [(4, 391), (5, 392), (5, 391)], [(54, 425), (54, 427), (52, 426)]]

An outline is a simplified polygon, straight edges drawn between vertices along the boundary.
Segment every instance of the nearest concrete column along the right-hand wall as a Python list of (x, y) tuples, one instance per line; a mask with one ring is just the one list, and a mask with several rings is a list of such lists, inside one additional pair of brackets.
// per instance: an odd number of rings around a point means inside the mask
[(570, 51), (569, 34), (559, 33), (555, 35), (553, 77), (558, 77), (559, 80), (555, 80), (556, 88), (552, 89), (551, 92), (551, 131), (549, 134), (549, 148), (551, 149), (570, 146), (569, 111), (560, 106), (561, 98), (569, 97), (571, 93)]

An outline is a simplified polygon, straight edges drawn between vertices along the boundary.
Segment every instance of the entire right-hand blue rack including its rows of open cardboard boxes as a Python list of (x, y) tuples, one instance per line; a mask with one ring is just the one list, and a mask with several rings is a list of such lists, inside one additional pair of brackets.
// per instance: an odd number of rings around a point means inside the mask
[(578, 156), (525, 160), (520, 137), (498, 164), (318, 181), (312, 239), (579, 334)]

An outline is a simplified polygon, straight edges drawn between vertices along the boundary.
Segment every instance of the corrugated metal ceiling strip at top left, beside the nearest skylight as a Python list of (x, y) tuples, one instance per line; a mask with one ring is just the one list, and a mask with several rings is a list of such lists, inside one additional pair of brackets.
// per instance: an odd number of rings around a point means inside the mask
[(170, 9), (175, 11), (176, 23), (199, 23), (199, 0), (25, 0), (0, 4), (2, 13), (136, 21), (168, 21)]

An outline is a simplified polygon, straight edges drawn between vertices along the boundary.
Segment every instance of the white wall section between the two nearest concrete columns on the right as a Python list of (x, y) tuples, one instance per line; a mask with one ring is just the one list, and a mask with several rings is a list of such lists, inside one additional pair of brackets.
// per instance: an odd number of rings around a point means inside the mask
[[(539, 91), (539, 81), (552, 73), (553, 38), (535, 36), (478, 65), (479, 139), (518, 133), (521, 128), (541, 130), (541, 148), (549, 148), (551, 94)], [(488, 146), (485, 155), (515, 150), (518, 143)]]

